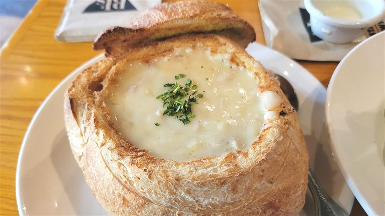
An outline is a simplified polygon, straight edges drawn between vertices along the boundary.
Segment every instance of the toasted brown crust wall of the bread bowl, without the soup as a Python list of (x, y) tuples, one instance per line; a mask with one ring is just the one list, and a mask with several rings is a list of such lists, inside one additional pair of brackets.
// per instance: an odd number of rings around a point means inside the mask
[[(187, 162), (155, 158), (117, 134), (104, 103), (109, 85), (124, 64), (194, 47), (231, 53), (254, 73), (260, 92), (280, 96), (275, 111), (285, 114), (267, 120), (271, 126), (246, 151)], [(69, 87), (65, 119), (75, 158), (111, 215), (295, 215), (304, 205), (308, 152), (296, 111), (263, 66), (226, 37), (173, 37), (92, 65)]]

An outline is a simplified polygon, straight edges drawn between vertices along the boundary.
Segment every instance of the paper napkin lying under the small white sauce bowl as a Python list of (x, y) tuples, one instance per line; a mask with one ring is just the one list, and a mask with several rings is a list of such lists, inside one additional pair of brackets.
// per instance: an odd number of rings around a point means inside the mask
[(381, 22), (369, 28), (357, 43), (333, 44), (312, 34), (303, 0), (260, 0), (259, 10), (266, 45), (298, 60), (341, 61), (359, 41), (385, 29)]

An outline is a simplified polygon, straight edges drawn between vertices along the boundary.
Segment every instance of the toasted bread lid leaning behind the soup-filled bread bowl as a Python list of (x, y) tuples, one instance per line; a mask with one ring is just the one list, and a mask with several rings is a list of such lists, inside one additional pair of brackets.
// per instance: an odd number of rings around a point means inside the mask
[(230, 7), (211, 1), (175, 1), (149, 9), (127, 27), (106, 30), (93, 48), (105, 49), (106, 56), (117, 56), (153, 41), (192, 33), (227, 36), (243, 47), (255, 41), (253, 27)]

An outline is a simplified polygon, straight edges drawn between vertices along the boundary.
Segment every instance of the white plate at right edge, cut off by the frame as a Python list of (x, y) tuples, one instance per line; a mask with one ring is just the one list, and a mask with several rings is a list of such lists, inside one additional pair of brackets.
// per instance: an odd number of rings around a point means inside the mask
[(327, 91), (331, 143), (347, 184), (368, 215), (385, 215), (385, 32), (337, 66)]

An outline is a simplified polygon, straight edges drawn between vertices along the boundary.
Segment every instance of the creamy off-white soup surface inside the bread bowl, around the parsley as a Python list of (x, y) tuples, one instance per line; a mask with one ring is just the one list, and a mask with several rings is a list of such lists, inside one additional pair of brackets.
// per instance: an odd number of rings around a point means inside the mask
[[(189, 161), (246, 150), (267, 118), (256, 80), (245, 68), (233, 65), (230, 55), (180, 49), (151, 64), (132, 62), (123, 70), (108, 101), (116, 130), (155, 157)], [(178, 74), (186, 76), (176, 80)], [(196, 97), (195, 118), (185, 125), (163, 115), (166, 106), (156, 97), (167, 89), (165, 83), (177, 81), (184, 86), (188, 78), (203, 97)]]

